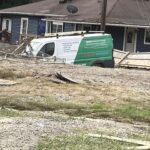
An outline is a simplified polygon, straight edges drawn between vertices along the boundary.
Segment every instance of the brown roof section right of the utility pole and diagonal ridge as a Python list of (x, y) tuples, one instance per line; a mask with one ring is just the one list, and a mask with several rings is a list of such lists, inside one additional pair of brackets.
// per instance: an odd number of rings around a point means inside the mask
[(149, 10), (149, 0), (118, 0), (107, 15), (107, 21), (114, 24), (150, 27)]

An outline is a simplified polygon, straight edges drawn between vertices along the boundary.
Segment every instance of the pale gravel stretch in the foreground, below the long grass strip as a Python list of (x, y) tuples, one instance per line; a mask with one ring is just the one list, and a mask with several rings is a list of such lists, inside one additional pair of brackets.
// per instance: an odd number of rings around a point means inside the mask
[(34, 150), (41, 137), (70, 135), (75, 129), (117, 137), (133, 134), (146, 134), (148, 125), (141, 128), (133, 124), (119, 123), (103, 119), (36, 119), (36, 118), (0, 118), (0, 148), (2, 150)]

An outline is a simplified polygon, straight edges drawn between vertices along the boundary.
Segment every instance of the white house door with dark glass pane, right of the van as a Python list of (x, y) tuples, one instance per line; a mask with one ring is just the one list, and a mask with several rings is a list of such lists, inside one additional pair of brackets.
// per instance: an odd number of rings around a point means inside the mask
[(125, 51), (135, 52), (136, 45), (136, 30), (135, 28), (126, 29)]

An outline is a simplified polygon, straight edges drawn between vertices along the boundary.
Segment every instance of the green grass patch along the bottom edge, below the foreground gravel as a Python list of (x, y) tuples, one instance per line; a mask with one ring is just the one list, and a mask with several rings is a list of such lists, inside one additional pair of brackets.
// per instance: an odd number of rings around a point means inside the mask
[(38, 150), (125, 150), (135, 146), (129, 143), (84, 136), (59, 136), (44, 138), (38, 144)]

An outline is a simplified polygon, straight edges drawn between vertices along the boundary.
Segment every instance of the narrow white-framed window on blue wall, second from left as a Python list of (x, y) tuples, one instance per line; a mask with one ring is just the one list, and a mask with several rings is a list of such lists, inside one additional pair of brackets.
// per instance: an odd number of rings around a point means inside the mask
[(21, 18), (20, 34), (27, 35), (28, 33), (28, 18)]

